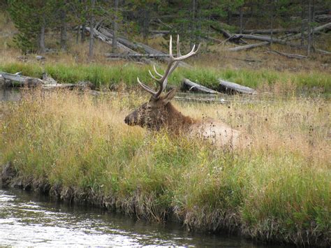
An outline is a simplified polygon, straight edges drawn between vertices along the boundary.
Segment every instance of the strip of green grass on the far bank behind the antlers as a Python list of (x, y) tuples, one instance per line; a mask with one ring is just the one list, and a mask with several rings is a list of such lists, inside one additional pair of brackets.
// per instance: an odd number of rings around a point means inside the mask
[[(149, 77), (148, 70), (152, 66), (139, 66), (136, 64), (105, 66), (102, 64), (24, 64), (19, 62), (0, 64), (0, 71), (16, 73), (22, 71), (23, 75), (40, 78), (43, 71), (47, 72), (58, 82), (75, 83), (78, 81), (90, 81), (97, 87), (118, 86), (119, 84), (128, 87), (136, 87), (137, 75), (149, 85), (154, 85)], [(161, 70), (159, 70), (161, 71)], [(218, 78), (236, 82), (240, 85), (263, 88), (277, 87), (285, 91), (293, 89), (310, 90), (318, 88), (320, 92), (329, 94), (331, 92), (331, 78), (328, 73), (289, 73), (270, 70), (252, 71), (248, 69), (233, 70), (214, 68), (179, 68), (169, 79), (170, 85), (179, 87), (183, 78), (189, 78), (207, 87), (216, 89)], [(291, 92), (290, 92), (291, 93)]]

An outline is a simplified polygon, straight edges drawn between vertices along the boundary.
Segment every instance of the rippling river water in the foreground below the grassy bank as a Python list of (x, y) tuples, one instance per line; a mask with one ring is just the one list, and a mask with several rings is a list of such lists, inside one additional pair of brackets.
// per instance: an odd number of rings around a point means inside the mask
[(0, 189), (0, 246), (264, 247), (231, 235), (189, 233), (99, 208), (54, 203), (20, 189)]

